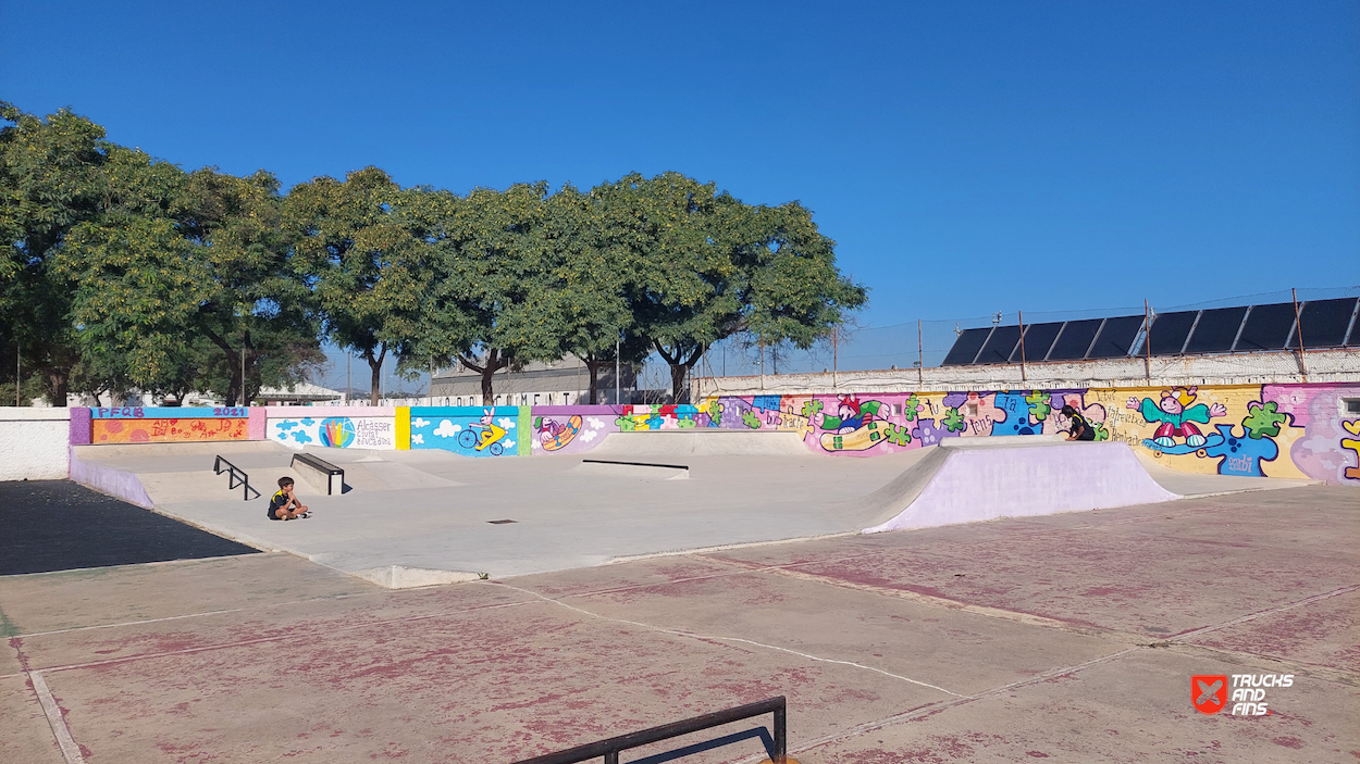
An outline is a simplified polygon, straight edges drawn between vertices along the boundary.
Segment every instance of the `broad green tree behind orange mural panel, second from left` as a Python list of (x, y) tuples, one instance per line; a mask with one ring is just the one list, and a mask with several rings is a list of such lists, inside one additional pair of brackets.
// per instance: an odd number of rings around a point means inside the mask
[(320, 359), (272, 175), (185, 174), (118, 147), (105, 170), (105, 209), (72, 230), (61, 256), (92, 377), (234, 405)]

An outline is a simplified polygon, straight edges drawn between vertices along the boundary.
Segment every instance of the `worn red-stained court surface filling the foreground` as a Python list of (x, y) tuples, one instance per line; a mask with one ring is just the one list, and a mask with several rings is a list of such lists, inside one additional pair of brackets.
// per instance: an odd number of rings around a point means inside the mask
[[(1307, 487), (419, 590), (277, 553), (0, 578), (0, 761), (509, 764), (775, 695), (802, 764), (1356, 761), (1357, 530)], [(1191, 704), (1265, 673), (1269, 715)]]

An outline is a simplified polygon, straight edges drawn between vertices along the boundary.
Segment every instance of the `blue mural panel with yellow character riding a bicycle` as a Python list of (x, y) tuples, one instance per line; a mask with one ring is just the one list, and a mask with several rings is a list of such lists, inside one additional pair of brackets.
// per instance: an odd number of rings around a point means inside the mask
[(430, 406), (411, 409), (411, 447), (465, 457), (528, 455), (529, 406)]

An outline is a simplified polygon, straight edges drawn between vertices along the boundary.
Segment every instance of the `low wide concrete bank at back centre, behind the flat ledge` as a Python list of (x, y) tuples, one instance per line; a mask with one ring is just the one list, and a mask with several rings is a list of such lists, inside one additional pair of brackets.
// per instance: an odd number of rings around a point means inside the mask
[(646, 430), (611, 432), (592, 457), (812, 457), (802, 435), (759, 430)]

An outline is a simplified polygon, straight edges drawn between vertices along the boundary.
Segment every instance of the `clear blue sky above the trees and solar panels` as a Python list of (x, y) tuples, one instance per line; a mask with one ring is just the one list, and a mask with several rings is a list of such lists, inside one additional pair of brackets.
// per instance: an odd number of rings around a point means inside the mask
[(1360, 284), (1360, 3), (639, 5), (0, 0), (0, 99), (286, 188), (801, 200), (869, 325)]

